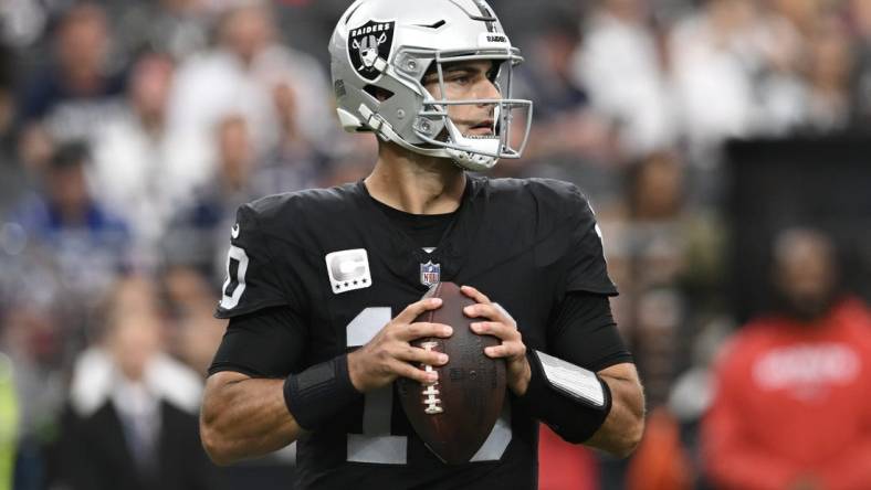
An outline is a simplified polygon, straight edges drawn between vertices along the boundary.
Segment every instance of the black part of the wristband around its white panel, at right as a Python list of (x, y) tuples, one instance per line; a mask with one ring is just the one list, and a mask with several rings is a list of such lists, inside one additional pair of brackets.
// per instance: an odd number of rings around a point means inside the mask
[(604, 392), (604, 403), (594, 404), (559, 390), (549, 382), (533, 349), (527, 351), (526, 359), (532, 375), (526, 393), (518, 401), (533, 416), (569, 443), (579, 444), (592, 437), (611, 412), (611, 391), (608, 383), (596, 375)]

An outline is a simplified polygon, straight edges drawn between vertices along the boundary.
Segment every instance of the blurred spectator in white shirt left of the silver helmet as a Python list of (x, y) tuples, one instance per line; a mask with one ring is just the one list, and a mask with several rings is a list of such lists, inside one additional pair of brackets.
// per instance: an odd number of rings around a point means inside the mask
[(212, 129), (230, 115), (242, 115), (260, 158), (280, 139), (279, 116), (272, 98), (277, 84), (287, 84), (300, 97), (296, 127), (312, 141), (325, 141), (332, 128), (323, 71), (309, 56), (275, 41), (269, 7), (245, 2), (223, 13), (218, 46), (192, 57), (179, 68), (170, 98), (169, 130), (183, 146), (174, 152), (171, 167), (190, 169), (187, 189), (207, 182), (216, 172)]

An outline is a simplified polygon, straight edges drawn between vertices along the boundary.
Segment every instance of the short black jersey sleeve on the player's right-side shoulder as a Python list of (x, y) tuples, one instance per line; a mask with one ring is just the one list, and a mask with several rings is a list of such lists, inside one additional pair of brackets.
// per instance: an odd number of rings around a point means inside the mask
[(617, 287), (608, 276), (601, 232), (587, 200), (574, 185), (570, 188), (569, 237), (566, 262), (566, 291), (586, 291), (617, 296)]

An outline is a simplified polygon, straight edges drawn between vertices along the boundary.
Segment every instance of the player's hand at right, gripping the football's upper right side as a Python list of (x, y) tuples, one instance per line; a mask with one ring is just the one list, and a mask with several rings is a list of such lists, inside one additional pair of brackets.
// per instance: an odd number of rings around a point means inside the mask
[(502, 341), (501, 345), (484, 349), (484, 353), (490, 358), (505, 359), (508, 388), (515, 395), (523, 396), (529, 385), (532, 369), (526, 360), (526, 344), (523, 343), (521, 331), (517, 330), (517, 322), (478, 289), (471, 286), (463, 286), (461, 289), (465, 296), (476, 302), (463, 309), (465, 316), (482, 320), (472, 323), (472, 331), (493, 335)]

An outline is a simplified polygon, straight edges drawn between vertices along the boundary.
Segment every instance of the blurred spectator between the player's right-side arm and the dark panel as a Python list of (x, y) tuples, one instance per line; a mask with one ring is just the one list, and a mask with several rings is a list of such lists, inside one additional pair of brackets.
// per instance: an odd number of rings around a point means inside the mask
[(678, 280), (686, 270), (683, 168), (676, 155), (654, 153), (629, 169), (627, 206), (604, 220), (609, 265), (626, 286), (616, 310), (646, 380), (649, 406), (662, 403), (680, 353), (685, 298)]

